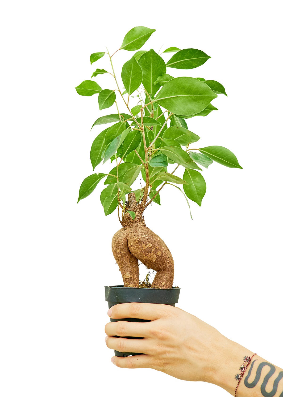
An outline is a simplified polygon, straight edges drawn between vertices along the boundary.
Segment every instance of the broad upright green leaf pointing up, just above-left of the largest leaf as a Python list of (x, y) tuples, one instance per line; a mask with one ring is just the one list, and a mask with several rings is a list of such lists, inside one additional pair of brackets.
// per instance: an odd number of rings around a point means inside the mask
[(148, 94), (155, 95), (161, 86), (159, 84), (154, 85), (154, 82), (157, 77), (166, 73), (164, 60), (151, 49), (140, 57), (138, 64), (142, 68), (143, 87)]

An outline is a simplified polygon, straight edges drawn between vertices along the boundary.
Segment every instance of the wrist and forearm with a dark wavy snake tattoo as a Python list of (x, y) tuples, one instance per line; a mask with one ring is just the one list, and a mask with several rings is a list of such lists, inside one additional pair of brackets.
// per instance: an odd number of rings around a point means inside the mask
[[(225, 338), (223, 347), (219, 347), (218, 363), (211, 368), (211, 383), (214, 383), (235, 395), (239, 382), (241, 365), (245, 357), (254, 352)], [(237, 397), (283, 397), (282, 369), (264, 358), (255, 355), (247, 366), (237, 387)]]

